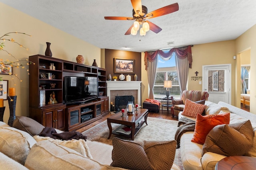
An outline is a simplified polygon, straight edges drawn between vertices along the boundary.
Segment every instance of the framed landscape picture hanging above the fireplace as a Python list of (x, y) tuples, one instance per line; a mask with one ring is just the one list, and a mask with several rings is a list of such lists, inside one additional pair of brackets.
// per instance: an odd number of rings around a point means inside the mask
[(135, 63), (133, 59), (114, 58), (114, 73), (132, 73), (134, 74)]

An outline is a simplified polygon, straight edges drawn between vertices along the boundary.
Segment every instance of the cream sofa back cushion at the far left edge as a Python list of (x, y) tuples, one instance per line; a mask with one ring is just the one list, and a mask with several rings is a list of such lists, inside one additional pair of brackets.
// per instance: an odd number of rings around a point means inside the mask
[(24, 165), (35, 139), (14, 127), (0, 127), (0, 152)]

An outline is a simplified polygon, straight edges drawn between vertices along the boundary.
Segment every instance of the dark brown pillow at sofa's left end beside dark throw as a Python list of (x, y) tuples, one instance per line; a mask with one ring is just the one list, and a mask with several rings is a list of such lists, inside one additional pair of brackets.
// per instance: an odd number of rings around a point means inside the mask
[(44, 129), (43, 125), (25, 116), (16, 116), (16, 119), (13, 121), (12, 127), (25, 131), (31, 136), (38, 135)]

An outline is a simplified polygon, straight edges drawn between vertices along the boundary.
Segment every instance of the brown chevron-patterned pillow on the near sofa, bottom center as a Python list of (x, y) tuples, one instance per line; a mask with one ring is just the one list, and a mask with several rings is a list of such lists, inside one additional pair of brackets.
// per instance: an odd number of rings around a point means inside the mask
[(170, 170), (176, 141), (127, 141), (113, 138), (111, 166), (133, 170)]

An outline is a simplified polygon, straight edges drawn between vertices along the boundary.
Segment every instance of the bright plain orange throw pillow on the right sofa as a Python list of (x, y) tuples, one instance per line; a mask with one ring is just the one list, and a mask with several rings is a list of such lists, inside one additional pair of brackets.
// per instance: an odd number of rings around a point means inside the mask
[(216, 115), (205, 115), (198, 114), (196, 116), (196, 126), (194, 131), (194, 137), (192, 142), (198, 144), (204, 144), (208, 133), (217, 125), (229, 124), (230, 113), (220, 113)]

